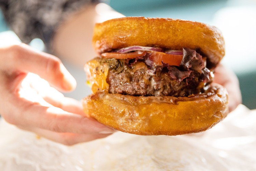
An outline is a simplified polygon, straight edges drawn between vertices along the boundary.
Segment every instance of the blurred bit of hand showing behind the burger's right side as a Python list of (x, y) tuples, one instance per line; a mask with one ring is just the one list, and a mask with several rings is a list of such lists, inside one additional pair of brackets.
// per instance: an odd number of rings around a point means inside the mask
[(237, 106), (242, 102), (239, 81), (236, 74), (225, 68), (223, 65), (219, 64), (215, 68), (214, 82), (221, 84), (227, 89), (229, 112), (236, 109)]

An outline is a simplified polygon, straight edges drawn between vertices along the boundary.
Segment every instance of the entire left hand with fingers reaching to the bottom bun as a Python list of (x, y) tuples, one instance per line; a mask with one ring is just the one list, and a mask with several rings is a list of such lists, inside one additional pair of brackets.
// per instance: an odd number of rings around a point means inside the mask
[(67, 145), (110, 135), (111, 128), (84, 115), (80, 102), (57, 91), (75, 85), (57, 57), (22, 43), (0, 46), (0, 114), (7, 122)]

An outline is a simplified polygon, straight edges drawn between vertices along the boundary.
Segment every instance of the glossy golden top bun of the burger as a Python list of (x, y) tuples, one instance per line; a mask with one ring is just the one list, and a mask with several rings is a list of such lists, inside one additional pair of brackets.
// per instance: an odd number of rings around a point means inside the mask
[(98, 23), (93, 46), (99, 54), (133, 45), (173, 50), (197, 49), (216, 65), (225, 55), (224, 38), (214, 26), (172, 18), (123, 17)]

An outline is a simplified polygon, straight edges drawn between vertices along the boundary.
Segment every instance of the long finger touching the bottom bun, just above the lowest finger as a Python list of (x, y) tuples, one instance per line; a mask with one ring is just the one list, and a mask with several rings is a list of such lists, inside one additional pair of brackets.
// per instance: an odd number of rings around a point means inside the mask
[(13, 99), (12, 111), (5, 120), (13, 125), (38, 127), (54, 132), (81, 134), (112, 133), (113, 129), (97, 122), (93, 118), (69, 113), (54, 106), (42, 106), (26, 99)]

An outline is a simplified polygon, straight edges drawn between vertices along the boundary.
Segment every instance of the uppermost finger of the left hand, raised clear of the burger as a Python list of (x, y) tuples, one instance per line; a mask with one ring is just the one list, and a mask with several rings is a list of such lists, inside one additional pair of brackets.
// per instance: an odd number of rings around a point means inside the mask
[(70, 91), (76, 86), (75, 79), (53, 55), (34, 51), (26, 44), (10, 46), (4, 54), (5, 63), (2, 67), (7, 71), (38, 74), (62, 91)]

